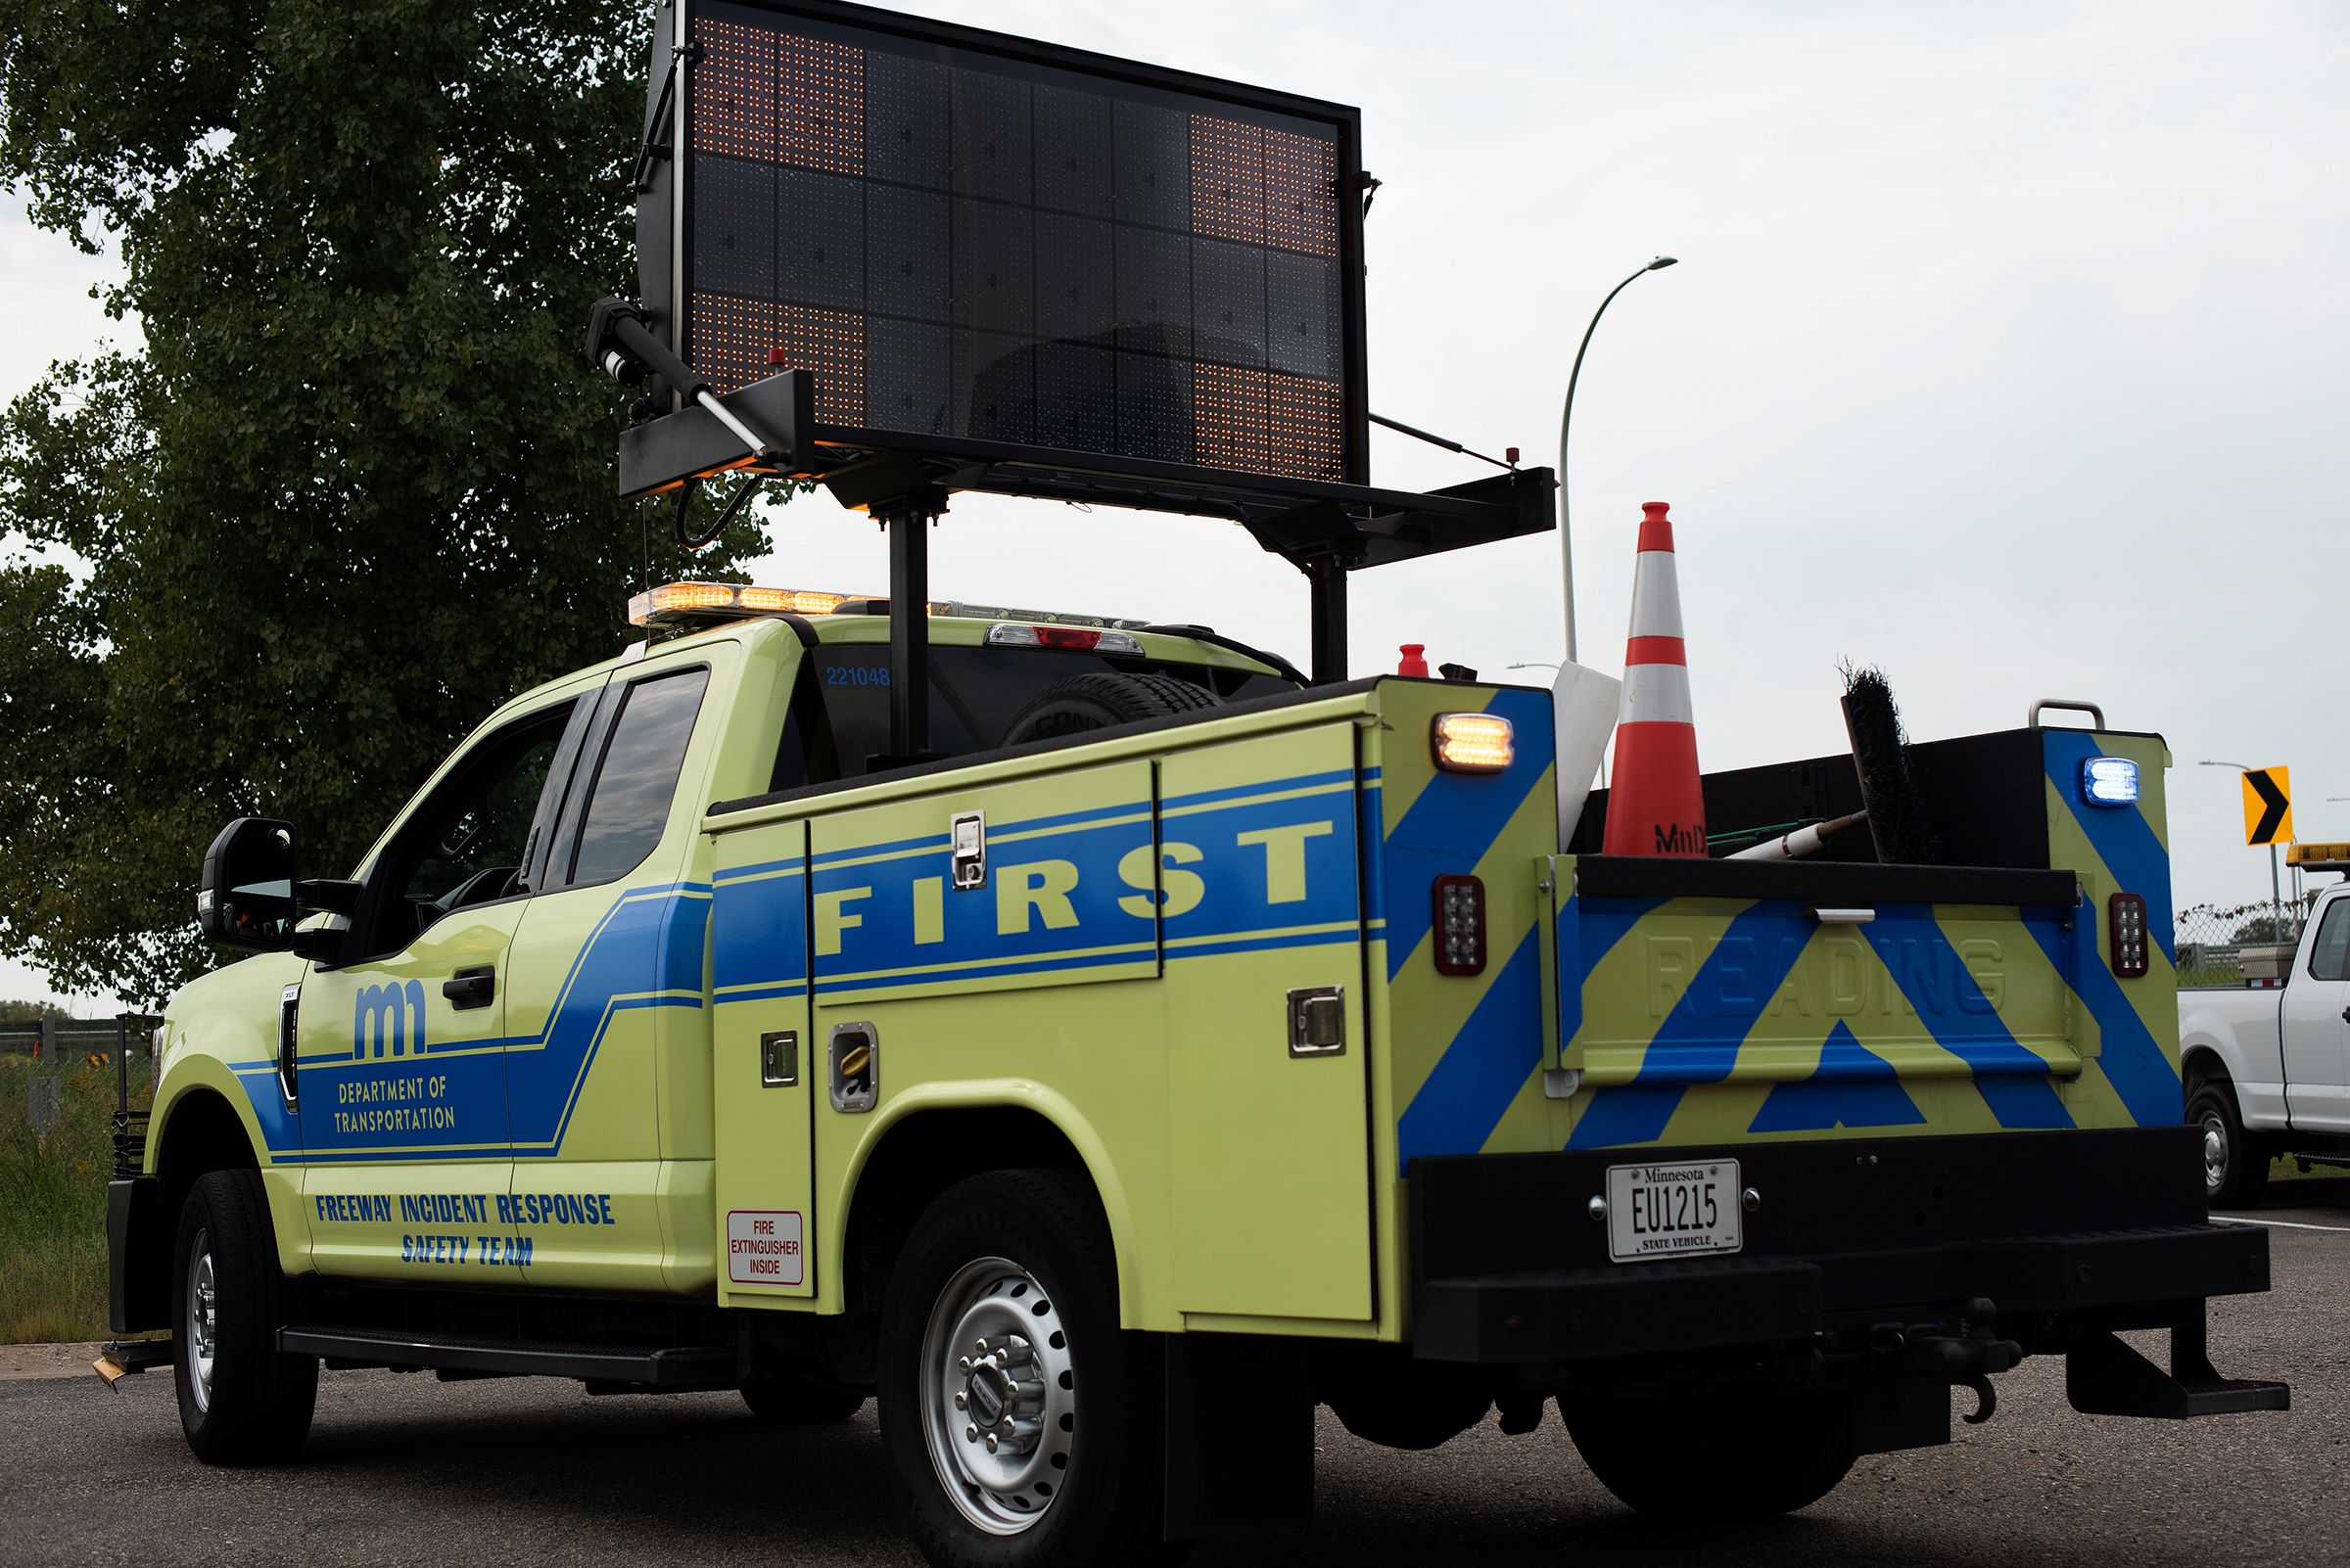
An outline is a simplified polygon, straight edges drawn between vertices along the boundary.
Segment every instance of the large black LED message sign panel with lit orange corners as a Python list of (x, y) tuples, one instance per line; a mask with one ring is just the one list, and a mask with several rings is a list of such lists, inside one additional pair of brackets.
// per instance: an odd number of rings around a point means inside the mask
[(672, 307), (721, 390), (806, 369), (841, 444), (1365, 481), (1354, 110), (853, 7), (682, 31)]

